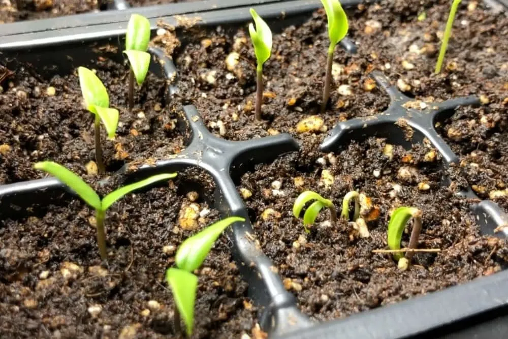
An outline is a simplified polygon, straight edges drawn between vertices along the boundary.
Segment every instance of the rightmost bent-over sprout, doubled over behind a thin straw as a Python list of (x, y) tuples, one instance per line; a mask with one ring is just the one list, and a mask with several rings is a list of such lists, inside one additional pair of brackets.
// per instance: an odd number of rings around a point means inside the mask
[[(408, 249), (417, 248), (418, 237), (422, 230), (422, 211), (415, 207), (399, 207), (393, 212), (390, 223), (388, 224), (388, 246), (390, 250), (400, 250), (402, 233), (406, 228), (407, 222), (411, 218), (413, 218), (415, 222), (411, 231), (411, 237), (409, 238)], [(398, 267), (401, 270), (406, 270), (414, 255), (415, 253), (413, 251), (407, 251), (404, 258), (400, 251), (395, 252), (393, 257), (398, 261)]]

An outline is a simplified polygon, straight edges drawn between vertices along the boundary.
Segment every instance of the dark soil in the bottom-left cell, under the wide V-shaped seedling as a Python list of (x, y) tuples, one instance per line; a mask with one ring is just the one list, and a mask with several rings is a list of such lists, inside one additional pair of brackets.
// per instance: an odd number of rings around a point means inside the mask
[[(203, 184), (203, 175), (197, 176)], [(50, 205), (40, 215), (0, 223), (0, 337), (180, 337), (173, 328), (173, 297), (164, 274), (178, 245), (219, 219), (208, 209), (197, 230), (183, 230), (179, 212), (190, 201), (176, 191), (186, 182), (131, 194), (108, 211), (108, 265), (101, 266), (90, 226), (93, 212), (80, 200)], [(213, 184), (207, 183), (208, 191)], [(100, 188), (107, 193), (110, 189)], [(205, 213), (206, 214), (206, 213)], [(250, 333), (256, 309), (220, 237), (199, 269), (196, 338)], [(157, 306), (157, 303), (160, 304)], [(100, 310), (93, 315), (94, 310)]]

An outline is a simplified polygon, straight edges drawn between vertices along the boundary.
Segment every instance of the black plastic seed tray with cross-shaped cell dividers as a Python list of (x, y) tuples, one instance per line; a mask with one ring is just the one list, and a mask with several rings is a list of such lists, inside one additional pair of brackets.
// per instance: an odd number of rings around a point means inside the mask
[[(211, 3), (211, 2), (204, 2)], [(225, 2), (226, 3), (226, 2)], [(242, 3), (240, 0), (237, 4)], [(280, 3), (260, 2), (258, 13), (265, 19), (273, 19), (278, 26), (294, 24), (321, 7), (319, 1), (291, 1)], [(343, 1), (344, 6), (354, 6), (359, 1)], [(170, 5), (167, 5), (169, 7)], [(155, 16), (150, 8), (137, 8), (136, 12), (151, 18), (155, 28)], [(85, 27), (64, 27), (61, 18), (53, 19), (53, 27), (43, 32), (6, 34), (0, 42), (0, 60), (5, 63), (29, 62), (37, 65), (42, 73), (66, 73), (77, 66), (87, 65), (94, 56), (91, 45), (102, 43), (122, 44), (120, 36), (125, 33), (126, 21), (131, 10), (126, 10), (115, 22), (93, 21)], [(106, 18), (109, 13), (100, 13)], [(196, 14), (199, 25), (239, 25), (250, 21), (248, 7), (226, 8)], [(281, 20), (281, 17), (284, 19)], [(173, 16), (162, 18), (165, 22), (179, 25)], [(84, 22), (88, 19), (84, 19)], [(58, 46), (58, 53), (55, 53)], [(354, 52), (354, 44), (345, 40), (343, 47)], [(120, 48), (121, 50), (121, 48)], [(162, 62), (160, 70), (153, 70), (168, 79), (178, 79), (178, 70), (163, 52), (152, 49), (155, 59)], [(67, 57), (67, 56), (70, 56)], [(121, 55), (119, 55), (119, 58)], [(157, 65), (157, 63), (152, 63)], [(57, 65), (57, 69), (49, 66)], [(372, 77), (384, 88), (391, 98), (386, 112), (374, 117), (352, 119), (341, 122), (321, 145), (323, 151), (338, 151), (351, 140), (362, 140), (377, 135), (389, 142), (410, 147), (413, 143), (427, 139), (441, 153), (443, 166), (456, 163), (458, 158), (434, 130), (437, 119), (453, 114), (459, 105), (475, 105), (474, 97), (457, 98), (443, 103), (426, 103), (424, 110), (406, 109), (403, 104), (410, 101), (389, 80), (378, 72)], [(173, 81), (168, 96), (178, 91), (178, 82)], [(169, 98), (170, 99), (170, 98)], [(415, 133), (407, 140), (403, 131), (394, 124), (404, 119)], [(233, 142), (220, 139), (208, 132), (199, 112), (192, 105), (183, 107), (179, 126), (188, 137), (184, 151), (174, 157), (158, 162), (155, 166), (141, 166), (135, 176), (145, 177), (158, 172), (182, 171), (189, 166), (207, 171), (215, 180), (215, 206), (226, 215), (239, 215), (248, 220), (248, 213), (233, 177), (243, 173), (243, 168), (252, 164), (269, 162), (282, 153), (297, 150), (299, 145), (288, 134)], [(126, 177), (126, 180), (132, 179)], [(446, 180), (445, 180), (446, 181)], [(0, 217), (21, 212), (33, 204), (48, 203), (50, 198), (67, 195), (65, 188), (54, 178), (45, 178), (0, 186)], [(471, 190), (463, 192), (467, 197), (477, 198)], [(471, 205), (478, 217), (482, 232), (491, 234), (494, 228), (508, 222), (506, 215), (491, 201)], [(406, 338), (406, 337), (506, 337), (508, 326), (508, 270), (479, 278), (467, 284), (450, 287), (425, 296), (415, 297), (397, 304), (362, 312), (345, 319), (316, 324), (303, 315), (295, 303), (294, 296), (286, 291), (279, 276), (271, 269), (271, 261), (251, 241), (254, 232), (249, 222), (234, 224), (228, 236), (232, 240), (233, 256), (249, 285), (249, 296), (260, 306), (259, 322), (262, 328), (276, 338)], [(455, 333), (455, 336), (449, 336)]]

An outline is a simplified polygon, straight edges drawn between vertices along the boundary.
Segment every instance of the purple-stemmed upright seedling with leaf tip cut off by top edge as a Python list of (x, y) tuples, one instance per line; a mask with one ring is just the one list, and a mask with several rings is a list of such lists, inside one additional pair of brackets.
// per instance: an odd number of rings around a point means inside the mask
[(333, 51), (338, 42), (347, 34), (348, 24), (347, 16), (340, 5), (339, 0), (321, 0), (325, 7), (328, 17), (328, 37), (330, 38), (330, 47), (328, 48), (328, 59), (326, 67), (325, 87), (323, 88), (323, 102), (321, 104), (321, 113), (325, 112), (326, 104), (330, 98), (330, 84), (332, 82), (332, 64)]

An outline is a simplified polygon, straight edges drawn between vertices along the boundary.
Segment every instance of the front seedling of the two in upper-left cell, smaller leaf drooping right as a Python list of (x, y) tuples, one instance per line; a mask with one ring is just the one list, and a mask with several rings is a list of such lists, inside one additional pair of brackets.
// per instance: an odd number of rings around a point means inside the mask
[(85, 101), (86, 109), (95, 115), (95, 146), (96, 161), (99, 173), (104, 173), (104, 161), (102, 159), (101, 145), (101, 120), (108, 133), (108, 138), (113, 139), (118, 126), (118, 110), (109, 108), (109, 96), (101, 79), (85, 67), (78, 68), (79, 85)]

